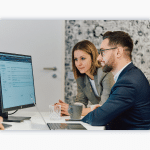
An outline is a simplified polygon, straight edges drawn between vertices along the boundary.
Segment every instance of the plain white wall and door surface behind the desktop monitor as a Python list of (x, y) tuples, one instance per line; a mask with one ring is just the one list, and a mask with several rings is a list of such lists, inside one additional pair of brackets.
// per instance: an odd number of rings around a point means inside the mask
[[(64, 31), (64, 20), (0, 20), (0, 51), (32, 56), (36, 100), (41, 111), (48, 111), (48, 105), (58, 99), (64, 100)], [(44, 67), (54, 66), (56, 72), (43, 71)]]

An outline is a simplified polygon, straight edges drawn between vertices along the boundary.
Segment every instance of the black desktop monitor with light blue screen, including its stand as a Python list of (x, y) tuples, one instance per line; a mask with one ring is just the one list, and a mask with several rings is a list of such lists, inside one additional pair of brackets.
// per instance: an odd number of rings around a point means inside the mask
[(0, 116), (8, 122), (30, 119), (9, 116), (8, 111), (35, 104), (31, 56), (0, 52)]

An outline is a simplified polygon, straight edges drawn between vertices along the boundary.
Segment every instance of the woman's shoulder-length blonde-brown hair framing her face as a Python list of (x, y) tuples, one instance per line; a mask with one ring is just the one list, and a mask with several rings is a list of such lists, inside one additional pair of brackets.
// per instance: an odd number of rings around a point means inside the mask
[(97, 74), (97, 68), (101, 67), (100, 63), (97, 61), (98, 57), (98, 51), (93, 43), (91, 43), (88, 40), (83, 40), (78, 42), (72, 50), (72, 68), (75, 79), (78, 77), (84, 76), (84, 74), (81, 74), (77, 67), (75, 66), (75, 60), (74, 60), (74, 51), (76, 50), (82, 50), (86, 53), (88, 53), (91, 56), (92, 64), (91, 64), (91, 75)]

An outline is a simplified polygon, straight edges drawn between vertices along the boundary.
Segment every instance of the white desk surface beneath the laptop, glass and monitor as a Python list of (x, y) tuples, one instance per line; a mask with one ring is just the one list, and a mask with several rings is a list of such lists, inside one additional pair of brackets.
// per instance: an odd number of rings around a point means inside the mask
[[(42, 120), (40, 114), (38, 112), (27, 112), (23, 110), (19, 110), (16, 114), (12, 116), (22, 116), (22, 117), (31, 117), (30, 120), (25, 120), (23, 122), (4, 122), (6, 124), (11, 124), (12, 127), (7, 128), (6, 130), (49, 130)], [(49, 112), (42, 112), (42, 116), (44, 117), (47, 123), (81, 123), (87, 130), (104, 130), (104, 126), (91, 126), (87, 123), (83, 123), (81, 121), (65, 121), (65, 119), (69, 119), (69, 116), (61, 117), (60, 120), (50, 120)]]

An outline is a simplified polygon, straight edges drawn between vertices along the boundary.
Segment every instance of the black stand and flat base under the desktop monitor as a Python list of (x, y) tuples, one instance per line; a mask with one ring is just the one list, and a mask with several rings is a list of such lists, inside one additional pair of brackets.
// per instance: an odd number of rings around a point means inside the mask
[(31, 117), (8, 116), (8, 112), (2, 113), (3, 122), (22, 122), (29, 120)]

